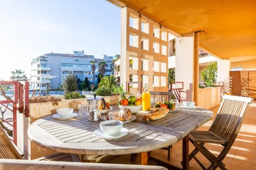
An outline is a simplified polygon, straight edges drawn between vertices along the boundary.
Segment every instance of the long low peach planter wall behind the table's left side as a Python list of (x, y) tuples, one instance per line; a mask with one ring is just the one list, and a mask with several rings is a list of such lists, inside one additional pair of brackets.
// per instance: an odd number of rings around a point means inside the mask
[[(90, 95), (87, 95), (87, 97), (90, 98)], [(111, 105), (117, 104), (120, 100), (119, 95), (102, 97), (105, 99), (106, 102), (109, 102)], [(29, 140), (27, 130), (30, 124), (32, 124), (33, 122), (35, 122), (36, 119), (42, 116), (55, 114), (56, 109), (58, 108), (70, 107), (78, 109), (79, 104), (87, 104), (87, 99), (62, 100), (58, 102), (58, 106), (53, 106), (52, 102), (30, 103), (29, 117), (24, 117), (24, 114), (17, 114), (17, 145), (18, 148), (24, 153), (24, 158), (36, 159), (54, 153), (53, 151), (39, 147), (38, 145)]]

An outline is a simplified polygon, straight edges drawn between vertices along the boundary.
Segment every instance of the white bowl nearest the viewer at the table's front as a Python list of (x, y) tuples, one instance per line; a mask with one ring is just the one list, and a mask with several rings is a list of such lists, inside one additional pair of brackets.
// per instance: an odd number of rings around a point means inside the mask
[(106, 120), (101, 122), (99, 127), (104, 133), (114, 135), (120, 132), (123, 127), (123, 123), (120, 120)]

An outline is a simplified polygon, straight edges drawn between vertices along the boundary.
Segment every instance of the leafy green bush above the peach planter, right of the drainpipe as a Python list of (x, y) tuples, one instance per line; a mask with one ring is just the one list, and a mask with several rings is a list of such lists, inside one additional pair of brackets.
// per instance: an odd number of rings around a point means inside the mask
[(201, 79), (204, 80), (207, 87), (212, 87), (217, 80), (218, 66), (217, 62), (211, 63), (206, 66), (201, 72)]

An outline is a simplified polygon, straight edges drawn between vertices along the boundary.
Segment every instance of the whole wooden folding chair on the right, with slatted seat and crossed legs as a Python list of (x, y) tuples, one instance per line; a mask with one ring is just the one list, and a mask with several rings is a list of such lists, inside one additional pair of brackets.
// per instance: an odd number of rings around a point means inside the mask
[[(224, 95), (223, 102), (209, 130), (193, 131), (189, 134), (189, 140), (196, 147), (189, 154), (189, 161), (194, 158), (203, 169), (216, 169), (217, 167), (226, 169), (222, 161), (236, 139), (243, 124), (244, 113), (252, 102), (251, 98)], [(216, 157), (204, 147), (205, 143), (221, 144), (224, 148)], [(196, 158), (198, 152), (201, 152), (211, 162), (208, 168)]]

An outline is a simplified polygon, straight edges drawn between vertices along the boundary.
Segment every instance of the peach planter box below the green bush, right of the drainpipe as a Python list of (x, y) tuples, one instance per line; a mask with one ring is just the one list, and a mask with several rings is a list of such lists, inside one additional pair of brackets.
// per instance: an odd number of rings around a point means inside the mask
[(198, 106), (210, 109), (221, 102), (221, 87), (199, 88)]

